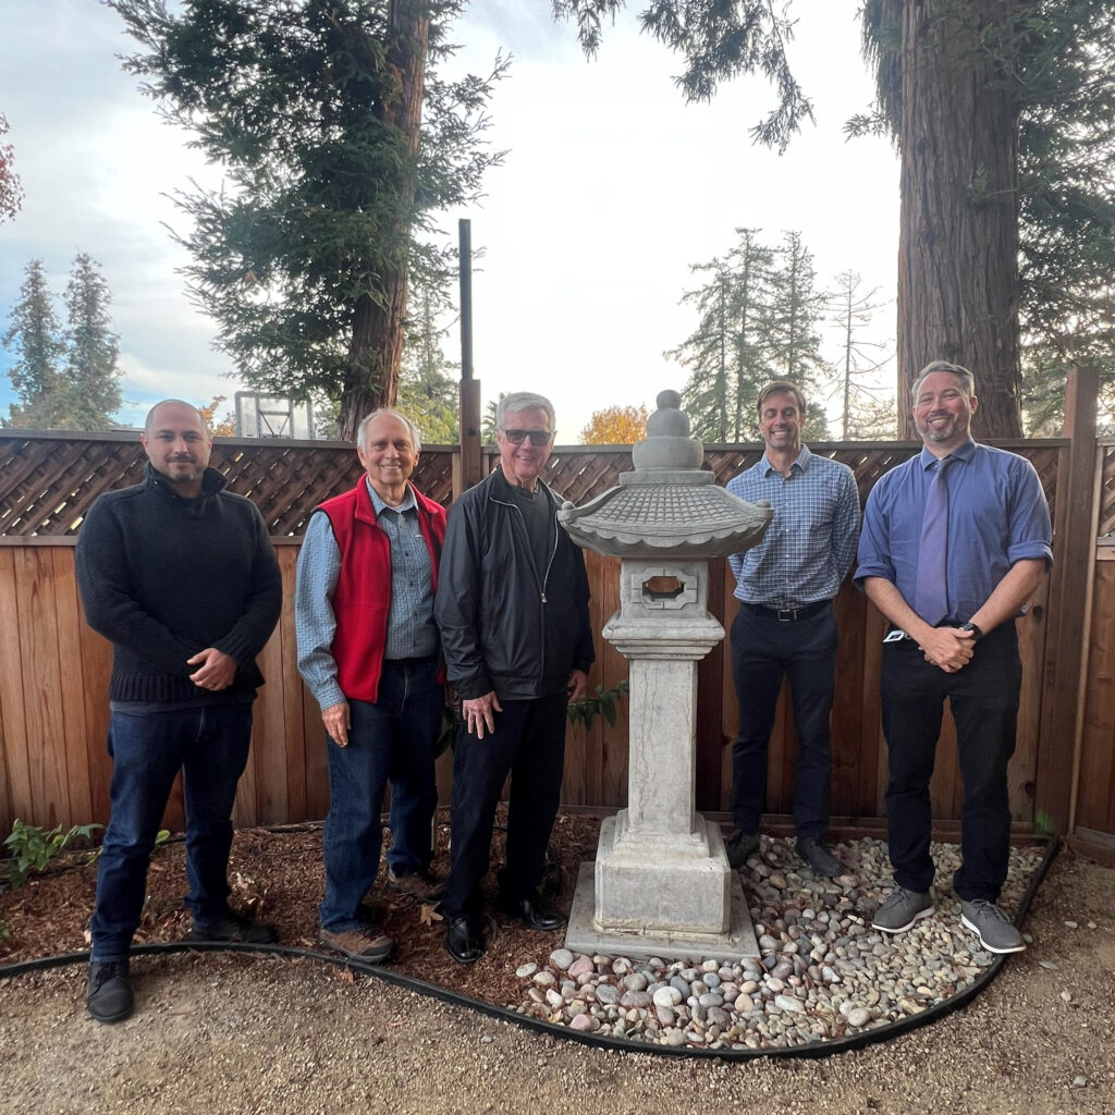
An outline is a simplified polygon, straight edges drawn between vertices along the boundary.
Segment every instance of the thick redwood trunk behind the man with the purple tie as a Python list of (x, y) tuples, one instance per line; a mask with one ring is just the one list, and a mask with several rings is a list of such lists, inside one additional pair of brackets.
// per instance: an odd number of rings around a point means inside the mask
[[(1014, 0), (961, 4), (1001, 19)], [(931, 360), (971, 369), (977, 437), (1020, 437), (1018, 112), (951, 0), (905, 0), (898, 362), (902, 437), (910, 386)]]

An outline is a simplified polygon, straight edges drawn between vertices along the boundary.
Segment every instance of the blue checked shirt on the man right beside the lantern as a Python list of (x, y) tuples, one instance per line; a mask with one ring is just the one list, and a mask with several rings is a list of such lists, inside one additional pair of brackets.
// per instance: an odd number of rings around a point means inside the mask
[(774, 511), (763, 541), (728, 556), (735, 597), (766, 608), (799, 608), (835, 597), (852, 568), (860, 529), (852, 469), (803, 445), (788, 476), (764, 453), (727, 487), (748, 503), (766, 500)]

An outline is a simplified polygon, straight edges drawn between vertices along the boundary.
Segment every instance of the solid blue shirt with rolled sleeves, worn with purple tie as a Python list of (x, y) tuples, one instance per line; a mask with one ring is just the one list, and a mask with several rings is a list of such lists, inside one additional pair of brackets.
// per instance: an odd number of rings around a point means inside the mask
[[(949, 619), (968, 620), (1015, 562), (1053, 562), (1049, 507), (1034, 466), (1015, 453), (970, 438), (950, 454), (946, 589)], [(860, 539), (855, 580), (881, 576), (909, 604), (918, 580), (925, 496), (937, 462), (928, 449), (892, 468), (872, 488)], [(1021, 614), (1021, 612), (1019, 612)]]

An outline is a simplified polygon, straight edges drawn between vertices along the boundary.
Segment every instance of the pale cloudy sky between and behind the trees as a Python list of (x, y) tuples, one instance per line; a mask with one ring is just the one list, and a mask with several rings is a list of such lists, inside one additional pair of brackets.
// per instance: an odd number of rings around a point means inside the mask
[[(492, 145), (507, 155), (486, 196), (443, 214), (446, 239), (472, 222), (484, 255), (473, 279), (475, 376), (485, 403), (501, 391), (547, 395), (558, 443), (579, 440), (592, 411), (655, 407), (686, 371), (663, 358), (696, 326), (679, 306), (690, 266), (726, 252), (735, 230), (768, 243), (796, 230), (818, 283), (854, 271), (883, 303), (872, 339), (893, 346), (899, 165), (882, 138), (845, 140), (842, 125), (873, 103), (860, 55), (860, 0), (794, 0), (791, 64), (814, 103), (784, 155), (752, 145), (749, 127), (773, 105), (757, 78), (686, 105), (680, 59), (639, 33), (633, 13), (586, 60), (549, 0), (474, 0), (452, 38), (455, 67), (487, 71), (512, 56), (492, 101)], [(641, 7), (636, 0), (634, 11)], [(23, 268), (43, 261), (59, 295), (78, 252), (103, 266), (120, 337), (124, 424), (152, 403), (232, 398), (244, 385), (191, 303), (169, 230), (186, 217), (171, 195), (193, 178), (221, 181), (161, 120), (118, 56), (134, 49), (115, 12), (96, 0), (0, 0), (0, 112), (10, 126), (26, 198), (0, 225), (0, 331)], [(837, 339), (826, 353), (836, 359)], [(456, 334), (446, 338), (459, 357)], [(0, 372), (12, 353), (0, 349)], [(0, 413), (13, 400), (0, 377)]]

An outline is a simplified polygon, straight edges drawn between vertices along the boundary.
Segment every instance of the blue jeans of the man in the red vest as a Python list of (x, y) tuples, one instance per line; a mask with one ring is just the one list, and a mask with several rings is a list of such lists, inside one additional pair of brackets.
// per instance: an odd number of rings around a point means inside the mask
[(437, 808), (434, 744), (445, 696), (436, 681), (439, 658), (385, 659), (375, 704), (349, 701), (348, 747), (331, 739), (329, 816), (323, 855), (326, 898), (318, 906), (322, 929), (345, 933), (367, 922), (360, 910), (379, 871), (380, 813), (391, 784), (391, 846), (387, 862), (397, 875), (429, 866), (430, 825)]

